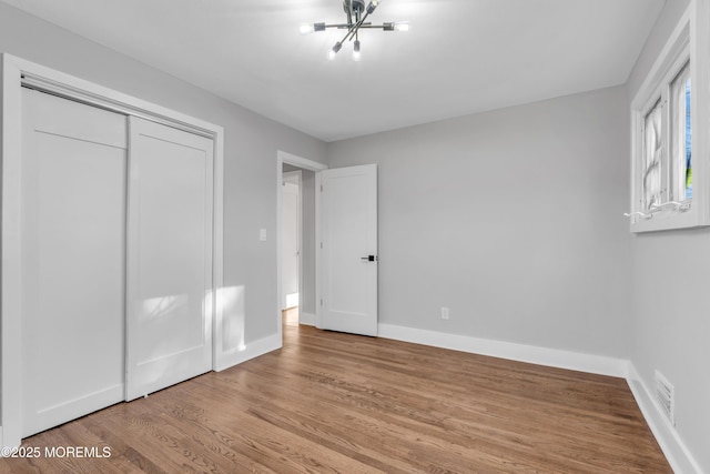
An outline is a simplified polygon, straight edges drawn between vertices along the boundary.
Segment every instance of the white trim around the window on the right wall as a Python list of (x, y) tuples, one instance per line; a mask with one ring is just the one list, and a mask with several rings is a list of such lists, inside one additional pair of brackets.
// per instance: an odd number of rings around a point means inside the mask
[[(678, 26), (661, 50), (638, 93), (631, 101), (631, 206), (628, 213), (631, 232), (650, 232), (671, 229), (686, 229), (710, 225), (710, 93), (708, 73), (710, 58), (707, 50), (710, 46), (708, 2), (691, 0)], [(698, 54), (698, 51), (704, 53)], [(659, 98), (667, 98), (666, 89), (673, 81), (683, 65), (690, 61), (691, 93), (691, 129), (692, 137), (692, 180), (693, 195), (691, 201), (671, 201), (663, 203), (652, 212), (642, 209), (642, 160), (643, 160), (643, 124), (646, 114)], [(669, 114), (668, 107), (663, 113)], [(668, 117), (665, 118), (669, 122)], [(670, 152), (670, 130), (666, 130), (665, 153)]]

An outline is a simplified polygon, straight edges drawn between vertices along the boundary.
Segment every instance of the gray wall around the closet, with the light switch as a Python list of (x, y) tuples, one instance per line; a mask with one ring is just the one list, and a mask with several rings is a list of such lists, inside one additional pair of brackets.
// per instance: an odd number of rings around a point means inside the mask
[(247, 344), (275, 334), (276, 152), (325, 161), (325, 144), (6, 3), (0, 51), (224, 127), (224, 284), (244, 289)]

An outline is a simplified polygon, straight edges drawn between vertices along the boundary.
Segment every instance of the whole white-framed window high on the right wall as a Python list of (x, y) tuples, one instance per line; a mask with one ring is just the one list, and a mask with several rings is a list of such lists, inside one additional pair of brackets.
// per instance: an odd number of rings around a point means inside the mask
[[(707, 137), (696, 137), (698, 123), (707, 123), (710, 98), (702, 88), (693, 90), (693, 78), (708, 78), (707, 54), (694, 57), (699, 38), (696, 9), (691, 1), (670, 40), (631, 103), (632, 232), (709, 225), (706, 184), (708, 164), (693, 160), (710, 148)], [(707, 7), (702, 7), (707, 8)], [(696, 81), (697, 82), (697, 81)], [(704, 153), (704, 154), (703, 154)]]

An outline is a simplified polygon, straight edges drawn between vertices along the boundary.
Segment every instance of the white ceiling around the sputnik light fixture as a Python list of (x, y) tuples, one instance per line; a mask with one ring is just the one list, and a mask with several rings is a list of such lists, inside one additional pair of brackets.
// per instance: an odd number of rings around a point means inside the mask
[(2, 0), (325, 141), (625, 83), (665, 0)]

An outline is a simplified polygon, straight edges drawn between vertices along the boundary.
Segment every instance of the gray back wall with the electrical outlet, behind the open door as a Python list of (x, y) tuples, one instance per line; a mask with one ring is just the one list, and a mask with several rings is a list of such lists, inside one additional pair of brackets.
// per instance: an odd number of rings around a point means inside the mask
[(620, 87), (328, 143), (378, 164), (381, 322), (628, 356), (628, 149)]

